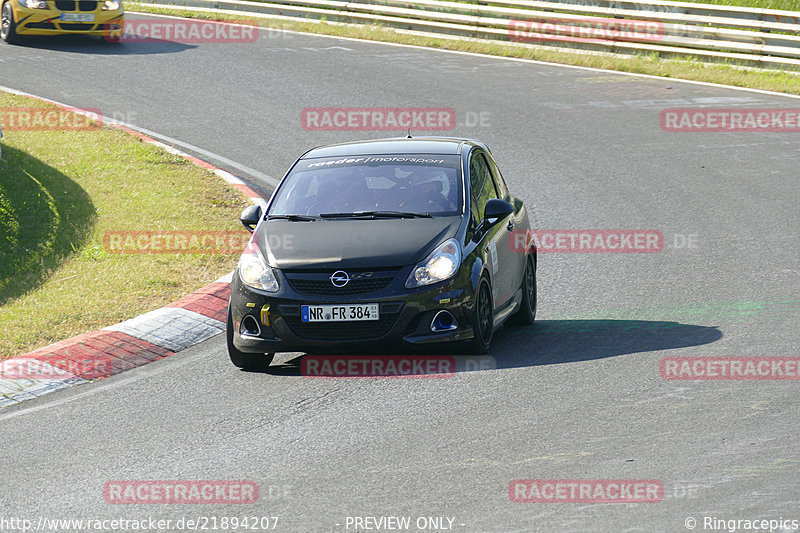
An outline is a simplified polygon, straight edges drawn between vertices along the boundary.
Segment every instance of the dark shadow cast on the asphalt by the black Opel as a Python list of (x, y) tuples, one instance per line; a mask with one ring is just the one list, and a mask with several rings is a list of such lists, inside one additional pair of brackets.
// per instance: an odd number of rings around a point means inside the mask
[[(517, 368), (591, 361), (619, 355), (646, 353), (709, 344), (722, 338), (714, 326), (648, 320), (541, 320), (533, 326), (504, 326), (495, 332), (487, 354), (496, 368)], [(434, 347), (415, 352), (360, 349), (352, 355), (452, 355), (466, 356), (458, 347)], [(343, 352), (340, 352), (343, 353)], [(480, 356), (471, 356), (480, 357)], [(302, 356), (268, 373), (300, 376)], [(469, 370), (467, 370), (469, 371)]]

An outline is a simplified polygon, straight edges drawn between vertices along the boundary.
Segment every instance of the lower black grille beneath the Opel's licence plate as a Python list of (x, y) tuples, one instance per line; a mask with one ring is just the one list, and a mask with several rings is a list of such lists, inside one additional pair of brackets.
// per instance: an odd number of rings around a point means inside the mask
[(303, 322), (299, 306), (281, 306), (286, 324), (298, 337), (309, 341), (373, 340), (383, 337), (397, 322), (402, 303), (382, 303), (379, 320), (356, 322)]

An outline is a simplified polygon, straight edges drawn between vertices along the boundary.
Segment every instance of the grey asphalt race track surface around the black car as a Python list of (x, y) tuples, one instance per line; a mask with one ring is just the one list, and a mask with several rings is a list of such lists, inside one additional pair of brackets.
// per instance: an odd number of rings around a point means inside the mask
[[(800, 102), (261, 35), (250, 44), (75, 37), (0, 46), (0, 84), (100, 108), (272, 177), (309, 147), (387, 136), (305, 130), (304, 108), (449, 107), (459, 125), (442, 133), (486, 141), (535, 226), (655, 228), (664, 250), (542, 255), (539, 323), (497, 333), (496, 369), (306, 379), (299, 354), (280, 354), (270, 373), (247, 373), (218, 336), (4, 409), (0, 516), (279, 516), (278, 531), (355, 531), (347, 517), (366, 516), (409, 516), (412, 526), (450, 517), (453, 531), (498, 532), (800, 520), (798, 382), (659, 373), (666, 356), (800, 355), (800, 134), (664, 132), (660, 111)], [(481, 113), (483, 125), (466, 123)], [(693, 248), (675, 246), (690, 234)], [(253, 480), (261, 496), (252, 505), (105, 502), (107, 481), (138, 479)], [(515, 503), (514, 479), (655, 479), (664, 498)]]

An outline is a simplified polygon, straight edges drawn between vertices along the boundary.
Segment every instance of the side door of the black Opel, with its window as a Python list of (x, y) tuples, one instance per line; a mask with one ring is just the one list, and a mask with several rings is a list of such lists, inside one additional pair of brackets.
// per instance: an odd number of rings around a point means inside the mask
[[(492, 198), (499, 198), (495, 180), (492, 177), (486, 155), (480, 149), (475, 149), (470, 154), (469, 162), (470, 179), (470, 216), (473, 227), (477, 227), (483, 220), (483, 211), (486, 202)], [(481, 255), (486, 261), (487, 269), (492, 282), (492, 300), (495, 309), (501, 307), (510, 297), (509, 276), (503, 273), (503, 268), (508, 268), (502, 263), (506, 260), (505, 254), (501, 256), (502, 248), (506, 246), (508, 230), (506, 222), (501, 221), (484, 231), (481, 235), (479, 246)]]

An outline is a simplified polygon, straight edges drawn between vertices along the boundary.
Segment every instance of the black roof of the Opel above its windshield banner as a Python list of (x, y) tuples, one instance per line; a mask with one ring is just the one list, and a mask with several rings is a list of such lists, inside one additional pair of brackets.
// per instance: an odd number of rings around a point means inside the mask
[(460, 137), (395, 137), (320, 146), (309, 150), (300, 159), (380, 154), (458, 155), (463, 143), (478, 145), (489, 150), (480, 141)]

